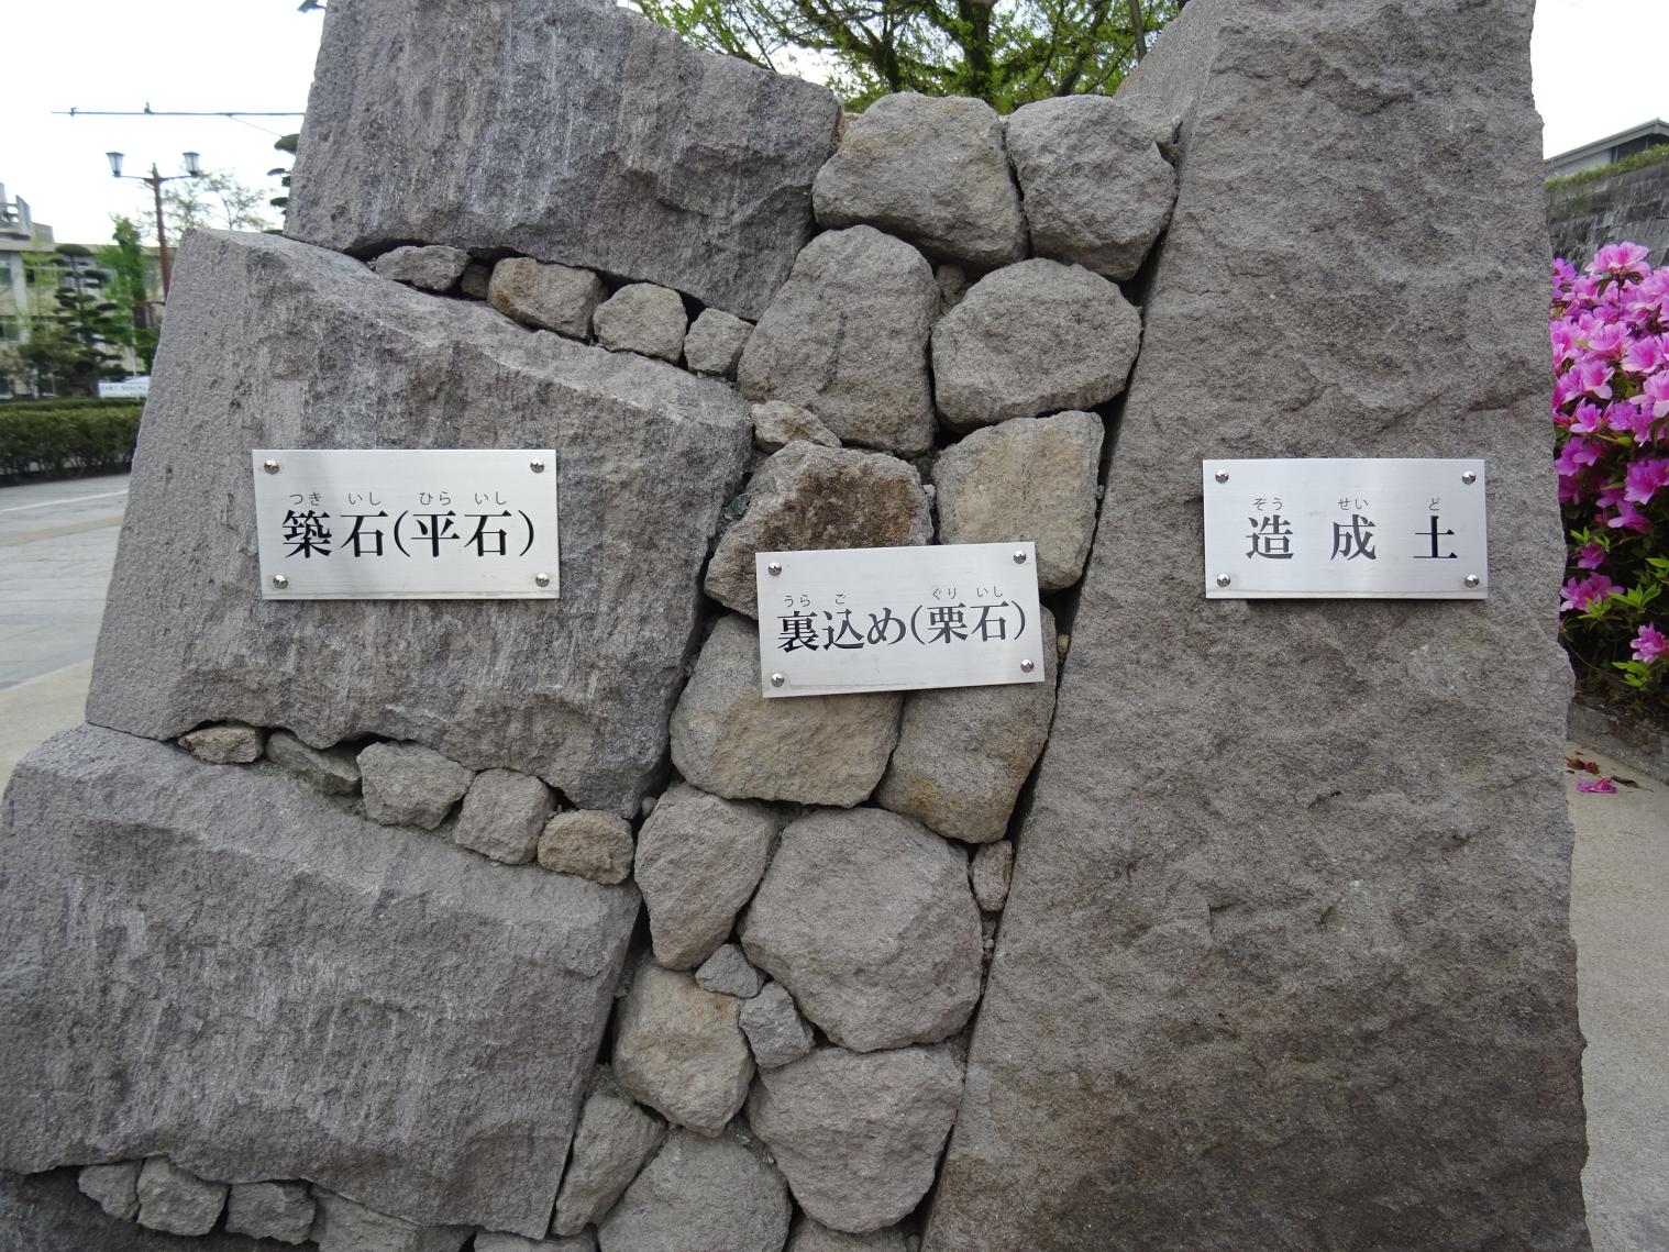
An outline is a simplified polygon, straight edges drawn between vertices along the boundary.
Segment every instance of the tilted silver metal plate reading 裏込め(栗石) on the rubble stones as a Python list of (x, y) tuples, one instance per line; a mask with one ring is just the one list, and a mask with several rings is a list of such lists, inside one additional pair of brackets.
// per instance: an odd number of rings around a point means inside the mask
[(759, 553), (759, 693), (1041, 683), (1036, 548)]

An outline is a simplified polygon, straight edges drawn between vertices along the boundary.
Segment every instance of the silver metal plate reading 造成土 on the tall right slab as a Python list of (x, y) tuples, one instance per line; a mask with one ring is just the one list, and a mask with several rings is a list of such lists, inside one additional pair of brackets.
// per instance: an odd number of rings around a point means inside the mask
[(1484, 599), (1482, 461), (1205, 461), (1210, 599)]

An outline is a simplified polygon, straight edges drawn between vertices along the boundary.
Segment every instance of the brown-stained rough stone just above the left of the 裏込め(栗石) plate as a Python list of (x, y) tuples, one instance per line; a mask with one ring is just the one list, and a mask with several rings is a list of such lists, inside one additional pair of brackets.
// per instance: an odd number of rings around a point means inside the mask
[(708, 564), (708, 594), (756, 618), (754, 553), (928, 543), (933, 509), (913, 466), (885, 452), (796, 441), (754, 472), (748, 511)]

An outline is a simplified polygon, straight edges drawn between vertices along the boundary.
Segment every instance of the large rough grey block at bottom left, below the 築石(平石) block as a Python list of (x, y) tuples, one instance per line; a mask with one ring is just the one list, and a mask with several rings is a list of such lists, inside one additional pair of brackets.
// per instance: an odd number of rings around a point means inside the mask
[(165, 1154), (544, 1230), (634, 890), (95, 726), (18, 766), (0, 848), (0, 1167)]

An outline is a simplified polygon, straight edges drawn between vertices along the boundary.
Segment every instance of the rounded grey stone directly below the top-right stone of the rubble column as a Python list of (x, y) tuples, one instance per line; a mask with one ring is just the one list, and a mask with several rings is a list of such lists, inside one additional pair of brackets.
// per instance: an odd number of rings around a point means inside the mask
[(953, 431), (1105, 404), (1125, 389), (1142, 317), (1100, 274), (1021, 260), (933, 327), (933, 394)]

